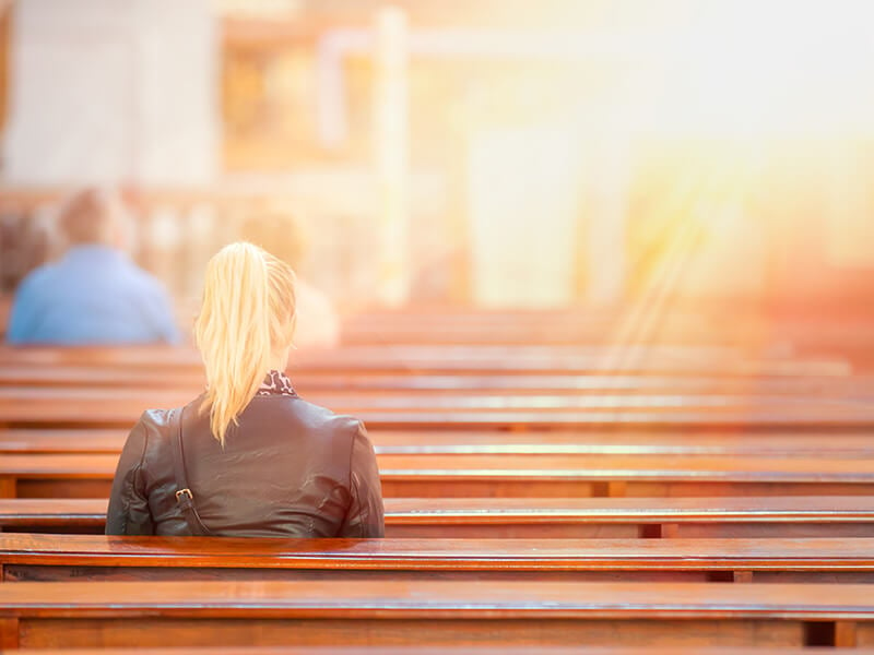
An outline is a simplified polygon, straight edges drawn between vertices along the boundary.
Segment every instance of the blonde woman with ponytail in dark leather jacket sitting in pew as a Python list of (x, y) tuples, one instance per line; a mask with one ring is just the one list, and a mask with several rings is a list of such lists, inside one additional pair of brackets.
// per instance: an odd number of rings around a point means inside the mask
[(210, 260), (196, 325), (206, 391), (140, 417), (118, 462), (107, 534), (382, 536), (364, 426), (304, 401), (283, 373), (294, 291), (292, 269), (251, 243)]

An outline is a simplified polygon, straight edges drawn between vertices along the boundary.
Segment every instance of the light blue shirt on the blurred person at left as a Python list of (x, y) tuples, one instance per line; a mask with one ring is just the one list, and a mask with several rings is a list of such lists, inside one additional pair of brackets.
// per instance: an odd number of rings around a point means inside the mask
[(71, 248), (21, 283), (7, 331), (10, 344), (101, 345), (179, 342), (167, 293), (123, 253)]

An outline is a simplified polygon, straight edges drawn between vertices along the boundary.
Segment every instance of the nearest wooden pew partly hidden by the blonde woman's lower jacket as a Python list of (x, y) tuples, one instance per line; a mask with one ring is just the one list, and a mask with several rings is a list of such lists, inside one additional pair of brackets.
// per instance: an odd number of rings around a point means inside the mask
[[(863, 496), (387, 498), (391, 538), (874, 537)], [(105, 499), (0, 499), (0, 532), (103, 534)]]

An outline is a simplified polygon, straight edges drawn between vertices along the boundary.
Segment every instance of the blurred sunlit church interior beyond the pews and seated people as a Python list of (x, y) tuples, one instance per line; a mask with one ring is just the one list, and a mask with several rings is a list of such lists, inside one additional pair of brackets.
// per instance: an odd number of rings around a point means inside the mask
[(0, 0), (0, 285), (54, 257), (59, 199), (113, 184), (184, 306), (269, 216), (344, 318), (706, 317), (867, 352), (872, 24), (866, 0)]

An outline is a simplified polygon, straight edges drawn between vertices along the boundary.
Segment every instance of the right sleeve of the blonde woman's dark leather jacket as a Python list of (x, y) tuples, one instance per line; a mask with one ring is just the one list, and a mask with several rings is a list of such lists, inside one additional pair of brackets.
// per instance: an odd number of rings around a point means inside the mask
[(350, 457), (350, 495), (352, 503), (346, 512), (340, 537), (382, 537), (386, 520), (382, 509), (382, 486), (376, 453), (367, 437), (364, 424), (358, 422), (352, 441)]

